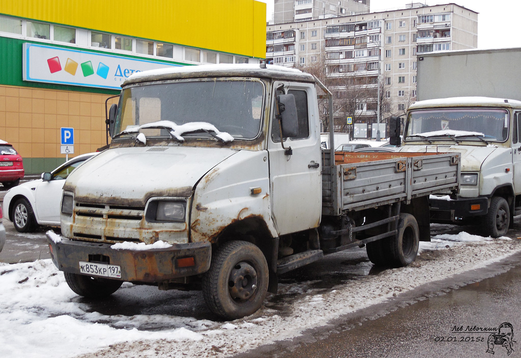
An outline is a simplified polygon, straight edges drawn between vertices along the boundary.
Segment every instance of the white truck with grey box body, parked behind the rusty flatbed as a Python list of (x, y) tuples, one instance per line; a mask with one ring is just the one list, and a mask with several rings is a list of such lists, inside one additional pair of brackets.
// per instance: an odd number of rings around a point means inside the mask
[(419, 101), (400, 150), (461, 154), (460, 193), (431, 196), (432, 222), (476, 224), (499, 237), (521, 214), (520, 61), (521, 48), (418, 57)]

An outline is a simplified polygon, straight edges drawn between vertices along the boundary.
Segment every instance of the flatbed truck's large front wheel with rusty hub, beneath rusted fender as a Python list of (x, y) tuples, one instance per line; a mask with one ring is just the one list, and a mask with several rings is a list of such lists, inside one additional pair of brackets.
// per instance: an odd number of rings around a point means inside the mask
[(247, 241), (229, 241), (212, 254), (203, 276), (203, 295), (210, 310), (226, 319), (261, 308), (268, 291), (268, 264), (261, 249)]

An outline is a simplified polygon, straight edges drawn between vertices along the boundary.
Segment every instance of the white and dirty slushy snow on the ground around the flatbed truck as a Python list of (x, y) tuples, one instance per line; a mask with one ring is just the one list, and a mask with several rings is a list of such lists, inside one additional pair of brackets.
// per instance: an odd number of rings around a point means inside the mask
[[(425, 258), (433, 250), (441, 254), (435, 260)], [(299, 295), (287, 308), (289, 315), (267, 306), (232, 322), (90, 312), (87, 304), (75, 299), (77, 295), (51, 260), (1, 264), (0, 357), (52, 354), (56, 358), (111, 358), (127, 357), (128, 352), (140, 357), (224, 357), (294, 338), (305, 329), (325, 325), (401, 292), (499, 261), (521, 251), (521, 242), (467, 233), (444, 234), (434, 236), (432, 242), (421, 242), (420, 251), (411, 266), (356, 277), (330, 290), (309, 287), (309, 282), (281, 285), (284, 293)], [(120, 290), (132, 289), (133, 285), (124, 284)], [(168, 328), (143, 328), (150, 322)]]

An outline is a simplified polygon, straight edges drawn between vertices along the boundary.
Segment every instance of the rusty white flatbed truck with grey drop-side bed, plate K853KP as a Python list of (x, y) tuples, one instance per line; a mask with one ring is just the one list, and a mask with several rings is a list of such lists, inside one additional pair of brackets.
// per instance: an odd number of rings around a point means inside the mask
[(69, 175), (61, 235), (48, 233), (70, 288), (201, 289), (233, 319), (326, 254), (365, 245), (379, 265), (414, 261), (427, 197), (456, 193), (460, 156), (321, 150), (317, 85), (277, 66), (132, 75), (109, 110), (109, 149)]

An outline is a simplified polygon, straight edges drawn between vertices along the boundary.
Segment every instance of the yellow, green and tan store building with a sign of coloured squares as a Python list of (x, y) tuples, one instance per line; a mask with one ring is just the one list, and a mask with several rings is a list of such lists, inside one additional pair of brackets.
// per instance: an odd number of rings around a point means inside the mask
[(65, 161), (61, 127), (74, 130), (71, 156), (105, 145), (105, 100), (135, 71), (259, 63), (266, 54), (262, 2), (100, 6), (0, 2), (0, 139), (20, 152), (26, 173)]

